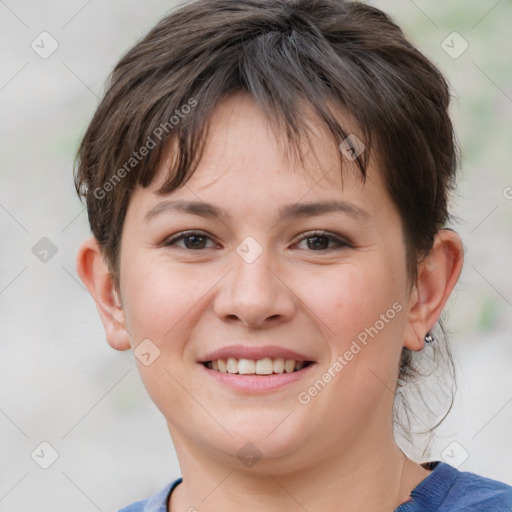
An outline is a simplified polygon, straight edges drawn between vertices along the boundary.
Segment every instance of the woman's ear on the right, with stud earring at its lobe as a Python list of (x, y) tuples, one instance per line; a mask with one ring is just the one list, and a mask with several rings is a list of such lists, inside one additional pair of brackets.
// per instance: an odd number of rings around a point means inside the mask
[(404, 346), (422, 350), (425, 335), (435, 325), (462, 271), (464, 250), (460, 236), (442, 229), (434, 245), (420, 263), (418, 279), (409, 297), (409, 324)]

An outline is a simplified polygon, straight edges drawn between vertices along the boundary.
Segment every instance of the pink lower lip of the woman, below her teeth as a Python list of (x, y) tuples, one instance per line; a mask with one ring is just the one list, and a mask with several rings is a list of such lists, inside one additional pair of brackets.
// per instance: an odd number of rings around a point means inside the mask
[(310, 373), (311, 369), (315, 366), (315, 363), (311, 363), (297, 372), (283, 372), (272, 375), (240, 375), (236, 373), (223, 373), (216, 370), (210, 370), (203, 364), (199, 364), (199, 366), (203, 371), (207, 372), (210, 377), (216, 379), (217, 382), (235, 389), (236, 391), (252, 394), (266, 393), (267, 391), (279, 389), (286, 384), (297, 382)]

